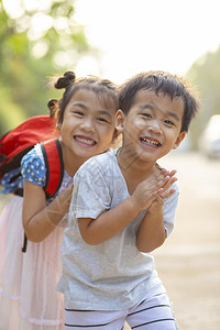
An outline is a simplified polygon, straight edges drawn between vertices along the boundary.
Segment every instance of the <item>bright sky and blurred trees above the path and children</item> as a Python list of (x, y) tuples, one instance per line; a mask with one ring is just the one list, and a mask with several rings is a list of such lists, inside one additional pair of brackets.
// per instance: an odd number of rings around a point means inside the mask
[(218, 0), (0, 3), (0, 82), (6, 89), (0, 134), (30, 114), (44, 113), (48, 98), (61, 96), (50, 89), (48, 77), (66, 69), (116, 84), (151, 69), (185, 76), (198, 87), (202, 103), (187, 141), (193, 148), (209, 118), (220, 113)]

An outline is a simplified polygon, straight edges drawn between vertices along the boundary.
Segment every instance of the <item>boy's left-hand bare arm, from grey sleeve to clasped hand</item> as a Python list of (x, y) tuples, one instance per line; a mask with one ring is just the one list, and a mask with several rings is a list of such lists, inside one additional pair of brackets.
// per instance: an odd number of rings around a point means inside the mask
[(102, 212), (96, 219), (78, 218), (79, 230), (85, 242), (96, 245), (119, 233), (141, 210), (151, 206), (153, 200), (164, 191), (162, 187), (165, 185), (168, 187), (174, 179), (162, 172), (142, 182), (131, 197), (116, 208)]

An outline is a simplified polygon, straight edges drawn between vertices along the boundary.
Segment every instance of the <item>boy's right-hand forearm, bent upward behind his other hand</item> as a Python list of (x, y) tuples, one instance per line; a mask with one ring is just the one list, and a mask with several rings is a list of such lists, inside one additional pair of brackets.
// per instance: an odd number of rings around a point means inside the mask
[(164, 227), (164, 199), (170, 197), (175, 191), (175, 188), (165, 191), (148, 207), (136, 234), (139, 251), (150, 253), (164, 243), (167, 237)]

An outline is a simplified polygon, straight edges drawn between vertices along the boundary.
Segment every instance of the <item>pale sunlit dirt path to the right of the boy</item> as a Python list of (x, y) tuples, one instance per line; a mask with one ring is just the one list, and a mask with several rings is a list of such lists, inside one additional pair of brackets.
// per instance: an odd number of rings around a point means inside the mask
[(156, 268), (179, 330), (219, 330), (220, 161), (173, 153), (161, 163), (178, 170), (180, 196), (175, 230), (154, 253)]

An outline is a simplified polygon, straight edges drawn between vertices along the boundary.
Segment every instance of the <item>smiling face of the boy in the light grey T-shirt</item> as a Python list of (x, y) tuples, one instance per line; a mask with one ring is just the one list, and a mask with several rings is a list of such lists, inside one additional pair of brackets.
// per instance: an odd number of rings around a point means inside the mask
[(117, 118), (123, 128), (123, 147), (136, 160), (155, 162), (177, 148), (185, 133), (179, 133), (184, 102), (164, 94), (141, 90), (127, 116), (121, 110)]

